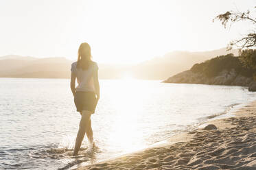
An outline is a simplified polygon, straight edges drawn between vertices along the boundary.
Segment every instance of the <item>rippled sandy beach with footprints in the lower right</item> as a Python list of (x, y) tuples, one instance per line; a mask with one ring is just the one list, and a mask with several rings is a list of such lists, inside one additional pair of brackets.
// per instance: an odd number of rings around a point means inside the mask
[(217, 130), (198, 128), (165, 144), (78, 169), (256, 169), (256, 101), (234, 114), (207, 122)]

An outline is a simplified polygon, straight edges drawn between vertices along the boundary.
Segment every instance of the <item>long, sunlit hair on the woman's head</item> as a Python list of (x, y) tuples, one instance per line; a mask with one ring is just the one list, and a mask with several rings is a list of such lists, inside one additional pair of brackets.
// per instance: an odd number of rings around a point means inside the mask
[(76, 68), (86, 70), (92, 62), (91, 47), (87, 42), (83, 42), (78, 49), (78, 62)]

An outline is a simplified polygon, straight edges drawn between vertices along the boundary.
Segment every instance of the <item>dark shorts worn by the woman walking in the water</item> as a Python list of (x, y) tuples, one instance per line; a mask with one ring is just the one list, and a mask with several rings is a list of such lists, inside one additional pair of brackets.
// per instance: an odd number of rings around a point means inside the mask
[(76, 111), (89, 110), (93, 113), (97, 106), (97, 99), (94, 92), (76, 91), (74, 96)]

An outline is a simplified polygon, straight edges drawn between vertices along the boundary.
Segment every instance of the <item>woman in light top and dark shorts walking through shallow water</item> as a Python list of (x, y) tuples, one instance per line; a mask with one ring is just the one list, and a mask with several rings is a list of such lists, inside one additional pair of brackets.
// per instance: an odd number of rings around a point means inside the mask
[[(91, 129), (91, 114), (95, 112), (100, 99), (100, 84), (97, 62), (91, 60), (91, 47), (84, 42), (78, 49), (78, 60), (71, 64), (70, 87), (74, 96), (75, 107), (81, 114), (78, 135), (75, 140), (73, 156), (78, 155), (84, 134), (89, 140), (89, 148), (93, 148), (93, 130)], [(75, 88), (75, 78), (78, 86)]]

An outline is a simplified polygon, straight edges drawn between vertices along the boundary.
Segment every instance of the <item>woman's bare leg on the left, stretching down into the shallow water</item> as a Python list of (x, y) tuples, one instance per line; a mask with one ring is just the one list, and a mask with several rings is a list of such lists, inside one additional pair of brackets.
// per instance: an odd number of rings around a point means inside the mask
[(82, 140), (84, 139), (85, 133), (91, 139), (91, 136), (89, 135), (89, 133), (87, 134), (87, 132), (89, 132), (89, 130), (88, 130), (89, 125), (91, 127), (91, 123), (89, 123), (89, 120), (91, 120), (91, 112), (87, 111), (87, 110), (83, 110), (82, 117), (81, 117), (80, 124), (79, 124), (78, 135), (76, 136), (76, 140), (75, 140), (75, 148), (73, 151), (73, 156), (78, 155), (78, 151), (81, 147)]

